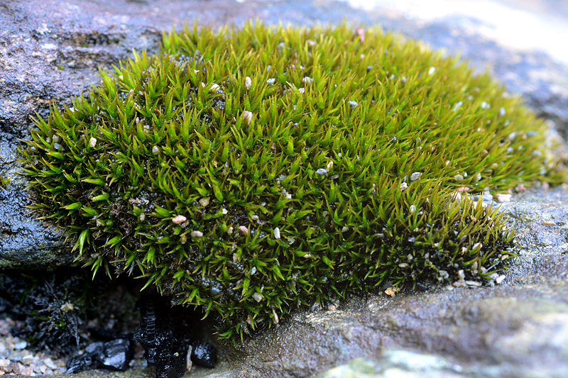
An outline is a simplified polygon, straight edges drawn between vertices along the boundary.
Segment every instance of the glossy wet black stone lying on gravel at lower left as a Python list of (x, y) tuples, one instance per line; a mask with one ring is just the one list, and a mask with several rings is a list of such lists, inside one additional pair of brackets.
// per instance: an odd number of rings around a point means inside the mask
[(116, 338), (87, 345), (84, 353), (67, 360), (67, 374), (97, 368), (126, 370), (134, 355), (130, 338)]

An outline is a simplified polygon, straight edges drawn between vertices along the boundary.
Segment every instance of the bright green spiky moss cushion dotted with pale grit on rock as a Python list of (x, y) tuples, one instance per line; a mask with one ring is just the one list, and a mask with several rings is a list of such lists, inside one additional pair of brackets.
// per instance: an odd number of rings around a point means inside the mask
[(513, 235), (455, 193), (566, 174), (518, 97), (378, 28), (194, 26), (101, 77), (36, 121), (33, 208), (224, 337), (388, 282), (488, 279)]

